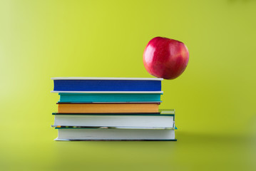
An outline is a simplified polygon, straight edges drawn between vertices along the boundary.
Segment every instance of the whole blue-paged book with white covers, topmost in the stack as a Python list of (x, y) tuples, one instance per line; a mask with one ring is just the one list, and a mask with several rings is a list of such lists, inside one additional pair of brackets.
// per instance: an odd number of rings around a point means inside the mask
[(163, 78), (51, 78), (54, 82), (53, 93), (163, 93)]

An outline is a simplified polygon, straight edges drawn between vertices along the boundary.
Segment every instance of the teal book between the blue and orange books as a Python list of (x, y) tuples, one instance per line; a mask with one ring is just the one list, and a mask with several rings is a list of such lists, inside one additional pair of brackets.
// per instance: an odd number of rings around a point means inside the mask
[(58, 93), (59, 103), (153, 102), (162, 93)]

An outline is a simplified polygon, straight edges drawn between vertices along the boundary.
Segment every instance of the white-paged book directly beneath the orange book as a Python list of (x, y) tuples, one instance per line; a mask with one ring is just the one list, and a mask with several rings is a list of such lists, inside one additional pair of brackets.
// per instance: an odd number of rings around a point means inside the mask
[(58, 114), (53, 127), (175, 128), (174, 114)]

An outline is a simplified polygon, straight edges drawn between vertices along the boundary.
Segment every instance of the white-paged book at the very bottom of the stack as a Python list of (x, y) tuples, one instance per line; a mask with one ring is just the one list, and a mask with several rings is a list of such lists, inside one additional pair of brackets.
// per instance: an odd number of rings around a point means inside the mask
[(175, 130), (59, 128), (55, 140), (175, 140)]

